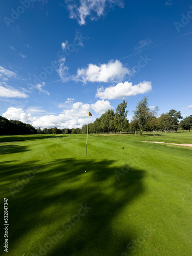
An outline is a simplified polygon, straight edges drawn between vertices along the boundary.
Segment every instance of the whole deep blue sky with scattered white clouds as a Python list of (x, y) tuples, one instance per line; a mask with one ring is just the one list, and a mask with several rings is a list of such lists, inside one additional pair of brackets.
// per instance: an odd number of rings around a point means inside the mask
[[(88, 4), (89, 3), (89, 4)], [(81, 127), (148, 96), (159, 114), (192, 114), (190, 1), (0, 3), (0, 115)]]

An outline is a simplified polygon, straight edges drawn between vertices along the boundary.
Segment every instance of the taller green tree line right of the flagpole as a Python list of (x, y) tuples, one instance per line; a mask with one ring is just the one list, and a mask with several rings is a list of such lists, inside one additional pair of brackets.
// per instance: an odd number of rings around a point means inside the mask
[[(142, 136), (143, 132), (152, 132), (155, 136), (155, 131), (161, 132), (176, 132), (180, 130), (189, 130), (192, 127), (192, 115), (185, 117), (181, 116), (180, 111), (174, 109), (161, 115), (158, 114), (159, 108), (148, 108), (148, 98), (144, 97), (137, 103), (136, 109), (133, 112), (134, 116), (131, 122), (127, 120), (126, 110), (127, 102), (123, 100), (114, 110), (108, 110), (97, 118), (88, 126), (88, 133), (117, 133), (120, 134), (139, 132)], [(180, 121), (180, 119), (183, 119)], [(81, 133), (87, 133), (87, 124), (84, 124)]]

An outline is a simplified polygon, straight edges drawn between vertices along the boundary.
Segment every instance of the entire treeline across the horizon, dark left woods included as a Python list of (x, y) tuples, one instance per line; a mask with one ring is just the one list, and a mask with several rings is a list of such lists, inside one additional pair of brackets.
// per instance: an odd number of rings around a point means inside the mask
[[(147, 97), (138, 102), (134, 111), (131, 122), (127, 120), (126, 106), (127, 102), (123, 100), (114, 110), (108, 110), (97, 118), (93, 123), (89, 123), (88, 133), (129, 133), (139, 132), (142, 136), (146, 132), (176, 132), (178, 130), (186, 130), (190, 132), (192, 128), (192, 115), (183, 119), (180, 111), (174, 109), (167, 113), (158, 114), (158, 106), (153, 109), (148, 108)], [(180, 121), (180, 119), (183, 119)], [(76, 129), (58, 129), (44, 128), (43, 130), (35, 129), (32, 125), (17, 120), (8, 120), (0, 116), (0, 135), (19, 135), (19, 134), (79, 134), (87, 133), (87, 124), (82, 128)]]

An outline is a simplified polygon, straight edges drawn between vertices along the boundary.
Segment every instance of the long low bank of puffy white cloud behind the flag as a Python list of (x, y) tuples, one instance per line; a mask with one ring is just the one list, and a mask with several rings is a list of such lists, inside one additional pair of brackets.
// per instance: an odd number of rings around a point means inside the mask
[[(112, 106), (109, 101), (98, 100), (96, 103), (91, 105), (87, 103), (84, 104), (82, 102), (75, 102), (70, 106), (70, 108), (63, 110), (59, 115), (45, 115), (44, 111), (38, 111), (35, 108), (28, 109), (26, 111), (23, 109), (9, 108), (5, 113), (3, 113), (3, 117), (20, 120), (22, 122), (29, 123), (36, 128), (41, 127), (41, 129), (55, 126), (60, 129), (71, 129), (77, 127), (81, 128), (84, 123), (87, 123), (89, 110), (94, 110), (96, 113), (102, 114), (111, 108)], [(36, 116), (32, 116), (30, 112), (33, 115), (36, 114)], [(39, 116), (40, 114), (43, 116)], [(96, 118), (94, 116), (91, 117), (92, 122), (95, 119)]]

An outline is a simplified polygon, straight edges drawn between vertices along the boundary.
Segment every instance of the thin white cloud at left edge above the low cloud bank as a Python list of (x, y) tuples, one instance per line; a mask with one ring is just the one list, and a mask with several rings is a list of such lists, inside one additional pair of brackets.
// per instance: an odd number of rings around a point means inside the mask
[(18, 91), (16, 89), (14, 89), (13, 87), (10, 87), (7, 85), (5, 85), (5, 86), (6, 87), (2, 86), (2, 83), (0, 83), (0, 97), (9, 97), (9, 98), (27, 98), (27, 97), (29, 97), (24, 92)]

